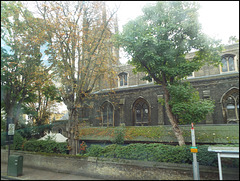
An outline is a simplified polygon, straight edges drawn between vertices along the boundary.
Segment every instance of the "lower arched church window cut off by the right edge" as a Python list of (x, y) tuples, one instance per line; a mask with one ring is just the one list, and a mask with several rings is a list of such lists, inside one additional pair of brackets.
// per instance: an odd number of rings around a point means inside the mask
[(239, 122), (239, 89), (232, 88), (221, 98), (223, 117), (226, 123)]

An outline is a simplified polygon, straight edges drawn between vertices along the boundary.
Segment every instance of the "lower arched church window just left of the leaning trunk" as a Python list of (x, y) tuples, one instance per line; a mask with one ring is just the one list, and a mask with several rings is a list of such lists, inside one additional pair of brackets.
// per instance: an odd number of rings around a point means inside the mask
[(133, 125), (148, 126), (150, 121), (149, 104), (143, 98), (139, 98), (133, 104)]

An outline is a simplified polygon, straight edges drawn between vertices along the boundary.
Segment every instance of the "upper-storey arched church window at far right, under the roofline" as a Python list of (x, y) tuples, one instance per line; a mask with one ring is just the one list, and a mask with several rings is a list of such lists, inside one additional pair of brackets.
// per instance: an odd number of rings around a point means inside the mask
[(231, 72), (235, 71), (235, 56), (231, 54), (223, 55), (222, 56), (222, 65), (220, 66), (221, 72)]

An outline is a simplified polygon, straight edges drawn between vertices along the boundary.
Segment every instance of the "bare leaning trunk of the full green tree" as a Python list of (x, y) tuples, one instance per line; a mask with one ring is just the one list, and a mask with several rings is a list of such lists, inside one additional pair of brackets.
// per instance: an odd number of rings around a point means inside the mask
[(169, 98), (170, 98), (169, 91), (168, 91), (165, 83), (163, 83), (162, 85), (163, 85), (163, 89), (164, 89), (164, 93), (165, 93), (164, 95), (165, 95), (165, 107), (166, 107), (166, 112), (167, 112), (167, 116), (168, 116), (168, 118), (169, 118), (169, 120), (170, 120), (170, 123), (171, 123), (171, 125), (172, 125), (173, 132), (174, 132), (174, 134), (175, 134), (175, 136), (176, 136), (176, 138), (177, 138), (177, 140), (178, 140), (178, 144), (179, 144), (180, 146), (185, 145), (185, 141), (184, 141), (184, 137), (183, 137), (183, 135), (182, 135), (182, 131), (181, 131), (181, 129), (179, 128), (178, 123), (177, 123), (177, 118), (176, 118), (176, 116), (172, 113), (172, 109), (171, 109), (171, 107), (170, 107), (170, 105), (169, 105)]

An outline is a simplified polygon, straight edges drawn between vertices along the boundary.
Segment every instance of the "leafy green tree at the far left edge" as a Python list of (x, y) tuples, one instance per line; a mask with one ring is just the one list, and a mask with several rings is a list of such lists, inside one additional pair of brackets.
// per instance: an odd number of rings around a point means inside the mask
[(38, 44), (30, 44), (30, 29), (26, 26), (20, 2), (1, 2), (1, 39), (10, 47), (1, 47), (1, 103), (7, 119), (18, 123), (18, 114), (40, 64)]

